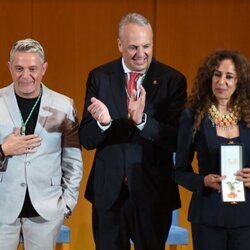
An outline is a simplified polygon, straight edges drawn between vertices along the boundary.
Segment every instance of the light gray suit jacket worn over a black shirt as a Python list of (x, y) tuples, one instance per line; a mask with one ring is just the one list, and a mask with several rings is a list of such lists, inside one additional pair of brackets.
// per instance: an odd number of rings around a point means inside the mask
[[(35, 153), (7, 157), (0, 169), (0, 223), (17, 219), (27, 187), (34, 208), (46, 220), (77, 203), (83, 168), (73, 101), (43, 84), (42, 89), (35, 127), (41, 146)], [(20, 124), (12, 83), (0, 89), (0, 144)]]

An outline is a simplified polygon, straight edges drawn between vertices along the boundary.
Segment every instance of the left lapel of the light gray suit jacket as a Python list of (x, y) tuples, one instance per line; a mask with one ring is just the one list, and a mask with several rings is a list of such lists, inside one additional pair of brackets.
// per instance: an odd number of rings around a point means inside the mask
[(6, 87), (3, 98), (9, 111), (9, 115), (13, 121), (14, 128), (21, 127), (20, 111), (18, 108), (13, 83)]

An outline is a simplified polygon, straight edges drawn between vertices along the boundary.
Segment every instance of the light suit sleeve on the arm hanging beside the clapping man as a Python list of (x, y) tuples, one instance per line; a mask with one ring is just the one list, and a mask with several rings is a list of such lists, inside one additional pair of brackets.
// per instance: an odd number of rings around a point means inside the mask
[(62, 140), (63, 197), (71, 210), (77, 203), (83, 173), (78, 129), (79, 123), (72, 104), (63, 124)]

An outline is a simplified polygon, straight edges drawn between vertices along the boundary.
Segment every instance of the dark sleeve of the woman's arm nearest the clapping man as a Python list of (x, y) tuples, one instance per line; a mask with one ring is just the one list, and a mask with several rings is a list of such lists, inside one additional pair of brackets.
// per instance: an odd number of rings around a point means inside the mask
[(180, 119), (176, 164), (173, 175), (176, 183), (190, 191), (200, 193), (204, 187), (204, 176), (195, 173), (192, 168), (195, 147), (193, 139), (193, 112), (185, 109)]

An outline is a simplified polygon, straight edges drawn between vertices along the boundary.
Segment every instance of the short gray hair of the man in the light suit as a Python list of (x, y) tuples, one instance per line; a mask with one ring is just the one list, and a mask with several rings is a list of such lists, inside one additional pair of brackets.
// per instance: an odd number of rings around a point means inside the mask
[(10, 62), (12, 63), (14, 60), (14, 55), (16, 52), (29, 52), (29, 53), (37, 53), (41, 62), (45, 62), (44, 50), (41, 44), (33, 40), (31, 38), (26, 38), (24, 40), (19, 40), (14, 43), (13, 47), (10, 51)]

